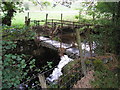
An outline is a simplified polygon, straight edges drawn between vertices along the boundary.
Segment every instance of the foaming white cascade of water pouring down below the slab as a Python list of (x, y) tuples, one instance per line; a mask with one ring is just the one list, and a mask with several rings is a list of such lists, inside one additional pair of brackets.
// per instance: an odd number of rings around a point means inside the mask
[(57, 80), (62, 74), (62, 68), (68, 64), (70, 61), (73, 61), (73, 59), (69, 58), (67, 55), (61, 56), (61, 60), (57, 66), (50, 75), (50, 77), (47, 78), (50, 82), (53, 82)]

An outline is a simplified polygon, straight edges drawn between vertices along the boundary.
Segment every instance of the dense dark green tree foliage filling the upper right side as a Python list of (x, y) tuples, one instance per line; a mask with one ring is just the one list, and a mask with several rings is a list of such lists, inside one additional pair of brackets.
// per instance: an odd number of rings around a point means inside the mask
[[(95, 10), (95, 24), (102, 25), (103, 27), (93, 28), (98, 34), (91, 34), (90, 39), (95, 42), (95, 53), (102, 55), (104, 53), (114, 53), (119, 55), (120, 51), (117, 49), (119, 42), (119, 2), (98, 2), (94, 7)], [(97, 11), (97, 12), (96, 12)], [(88, 9), (89, 12), (89, 9)], [(92, 14), (89, 14), (92, 16)], [(96, 16), (100, 15), (99, 18)]]

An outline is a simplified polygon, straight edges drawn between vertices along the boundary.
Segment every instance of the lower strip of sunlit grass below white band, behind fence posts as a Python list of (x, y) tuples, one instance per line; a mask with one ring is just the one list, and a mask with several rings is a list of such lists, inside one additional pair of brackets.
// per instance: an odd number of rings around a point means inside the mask
[[(75, 20), (74, 13), (63, 13), (63, 20)], [(25, 16), (27, 16), (27, 12), (17, 13), (12, 20), (12, 25), (24, 25)], [(29, 16), (31, 20), (45, 20), (46, 12), (30, 12)], [(48, 19), (61, 19), (61, 13), (49, 12)]]

